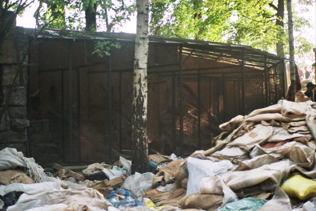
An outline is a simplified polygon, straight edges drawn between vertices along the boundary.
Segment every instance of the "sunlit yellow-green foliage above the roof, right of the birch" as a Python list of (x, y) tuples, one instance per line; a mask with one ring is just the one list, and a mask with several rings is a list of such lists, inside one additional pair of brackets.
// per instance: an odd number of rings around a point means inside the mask
[[(312, 2), (295, 1), (294, 30), (311, 27), (300, 12)], [(288, 45), (288, 34), (286, 19), (284, 29), (276, 26), (277, 11), (272, 3), (277, 5), (277, 0), (151, 0), (149, 32), (159, 29), (161, 36), (250, 45), (276, 53), (277, 42)], [(310, 51), (311, 43), (298, 36), (296, 53), (302, 56)]]

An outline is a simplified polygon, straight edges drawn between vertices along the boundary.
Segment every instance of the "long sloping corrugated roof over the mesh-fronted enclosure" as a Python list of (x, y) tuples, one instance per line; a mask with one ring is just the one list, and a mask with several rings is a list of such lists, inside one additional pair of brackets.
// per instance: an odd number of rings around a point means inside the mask
[[(27, 35), (31, 37), (37, 36), (38, 38), (63, 38), (75, 40), (113, 40), (121, 42), (135, 41), (135, 34), (128, 33), (75, 31), (65, 29), (44, 29), (40, 31), (34, 30), (33, 28), (24, 28), (24, 30)], [(240, 65), (242, 60), (244, 59), (245, 66), (260, 70), (264, 69), (265, 64), (269, 68), (285, 60), (285, 58), (246, 45), (179, 39), (152, 35), (149, 35), (149, 43), (181, 46), (183, 47), (184, 54), (191, 54), (191, 56), (212, 59), (219, 62), (234, 65)]]

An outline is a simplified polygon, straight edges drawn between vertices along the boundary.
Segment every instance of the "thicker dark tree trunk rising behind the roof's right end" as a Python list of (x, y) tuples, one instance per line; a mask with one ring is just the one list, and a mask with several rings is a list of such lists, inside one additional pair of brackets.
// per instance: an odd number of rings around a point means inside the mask
[[(284, 58), (284, 47), (283, 47), (283, 41), (282, 37), (284, 35), (284, 0), (278, 0), (277, 4), (277, 11), (276, 11), (276, 26), (279, 27), (278, 36), (277, 36), (277, 42), (276, 42), (276, 55)], [(283, 65), (283, 67), (281, 67)], [(285, 64), (281, 64), (280, 69), (284, 70), (283, 72), (283, 78), (284, 78), (284, 84), (283, 89), (284, 93), (286, 93), (286, 90), (288, 90), (288, 77), (287, 72), (285, 68)]]

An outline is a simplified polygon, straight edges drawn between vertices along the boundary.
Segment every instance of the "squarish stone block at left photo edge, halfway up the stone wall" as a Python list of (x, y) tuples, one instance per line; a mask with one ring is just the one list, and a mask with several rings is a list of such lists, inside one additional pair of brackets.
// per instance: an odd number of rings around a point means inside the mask
[(18, 65), (2, 65), (0, 67), (0, 82), (2, 86), (11, 87), (18, 86), (20, 84), (20, 74), (17, 75), (14, 81), (16, 72), (18, 71)]

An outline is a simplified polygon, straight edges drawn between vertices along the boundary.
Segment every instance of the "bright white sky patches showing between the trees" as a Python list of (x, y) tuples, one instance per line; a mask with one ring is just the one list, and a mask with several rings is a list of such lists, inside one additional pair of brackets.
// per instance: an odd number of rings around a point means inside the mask
[[(132, 0), (129, 0), (132, 1)], [(22, 16), (18, 16), (16, 18), (16, 25), (25, 27), (25, 28), (35, 28), (35, 18), (33, 17), (34, 12), (36, 11), (39, 3), (35, 1), (32, 6), (28, 7)], [(295, 8), (296, 10), (300, 10), (301, 8)], [(309, 6), (308, 12), (301, 12), (300, 15), (309, 19), (312, 24), (312, 29), (306, 28), (304, 31), (294, 31), (294, 36), (298, 34), (302, 34), (308, 40), (313, 43), (313, 47), (316, 46), (316, 3), (314, 2), (312, 6)], [(66, 14), (67, 16), (67, 14)], [(285, 14), (285, 16), (287, 16)], [(84, 16), (83, 16), (84, 18)], [(285, 17), (286, 18), (286, 17)], [(100, 28), (100, 31), (106, 31), (106, 28)], [(115, 30), (115, 32), (125, 32), (125, 33), (136, 33), (136, 14), (133, 14), (130, 17), (130, 20), (127, 20), (123, 23), (122, 27)], [(313, 49), (311, 49), (313, 51)], [(303, 60), (299, 58), (295, 58), (296, 63), (306, 63), (313, 64), (314, 58), (309, 58), (306, 56)]]

